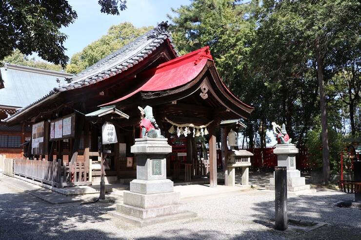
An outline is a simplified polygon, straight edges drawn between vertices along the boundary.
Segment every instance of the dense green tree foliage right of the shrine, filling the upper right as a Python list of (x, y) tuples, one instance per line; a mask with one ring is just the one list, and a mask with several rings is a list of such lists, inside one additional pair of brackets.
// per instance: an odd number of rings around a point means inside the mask
[[(193, 0), (173, 9), (176, 17), (169, 18), (180, 53), (209, 45), (223, 81), (255, 107), (245, 130), (251, 147), (264, 146), (259, 129), (270, 129), (272, 121), (284, 122), (293, 142), (303, 145), (310, 126), (320, 121), (317, 39), (326, 91), (335, 75), (347, 71), (354, 74), (354, 98), (358, 94), (359, 8), (356, 0)], [(345, 134), (345, 105), (335, 92), (326, 92), (326, 97), (332, 103), (330, 127)]]

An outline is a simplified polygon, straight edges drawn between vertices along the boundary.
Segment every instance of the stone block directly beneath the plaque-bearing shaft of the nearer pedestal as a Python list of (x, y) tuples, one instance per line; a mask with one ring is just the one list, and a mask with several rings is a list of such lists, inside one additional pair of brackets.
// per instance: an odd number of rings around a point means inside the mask
[(173, 192), (173, 182), (169, 179), (140, 180), (130, 182), (130, 191), (142, 194)]

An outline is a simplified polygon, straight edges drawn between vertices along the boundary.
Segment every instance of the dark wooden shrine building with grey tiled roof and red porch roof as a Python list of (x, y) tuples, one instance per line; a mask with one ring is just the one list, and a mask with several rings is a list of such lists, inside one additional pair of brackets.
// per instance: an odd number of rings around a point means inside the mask
[[(23, 161), (57, 167), (56, 176), (46, 175), (43, 182), (57, 187), (99, 183), (103, 154), (106, 181), (117, 183), (136, 177), (137, 159), (130, 147), (140, 136), (139, 106), (153, 108), (161, 134), (172, 146), (169, 178), (198, 178), (211, 186), (217, 186), (217, 168), (224, 168), (228, 131), (245, 127), (240, 119), (253, 111), (224, 85), (209, 47), (179, 56), (162, 22), (81, 73), (66, 76), (3, 122), (31, 126), (28, 160)], [(114, 125), (117, 143), (100, 152), (105, 122)], [(217, 150), (218, 132), (222, 151)], [(24, 162), (23, 168), (30, 165)]]

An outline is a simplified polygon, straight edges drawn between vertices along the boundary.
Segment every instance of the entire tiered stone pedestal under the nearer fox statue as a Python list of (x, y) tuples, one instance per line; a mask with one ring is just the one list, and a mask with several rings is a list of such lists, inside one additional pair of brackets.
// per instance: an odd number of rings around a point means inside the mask
[(109, 214), (137, 226), (196, 217), (180, 204), (180, 193), (166, 179), (166, 155), (172, 152), (166, 138), (139, 138), (131, 152), (137, 157), (137, 179), (124, 191), (123, 203)]

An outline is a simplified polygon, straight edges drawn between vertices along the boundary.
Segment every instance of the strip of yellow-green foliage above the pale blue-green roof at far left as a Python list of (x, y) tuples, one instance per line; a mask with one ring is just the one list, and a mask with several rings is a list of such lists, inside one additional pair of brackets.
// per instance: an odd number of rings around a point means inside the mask
[(55, 65), (52, 63), (47, 63), (44, 61), (35, 60), (35, 58), (30, 58), (20, 53), (18, 49), (16, 49), (12, 55), (6, 56), (3, 60), (7, 63), (18, 64), (22, 66), (28, 66), (33, 68), (47, 69), (53, 71), (61, 71), (62, 68), (60, 65)]

